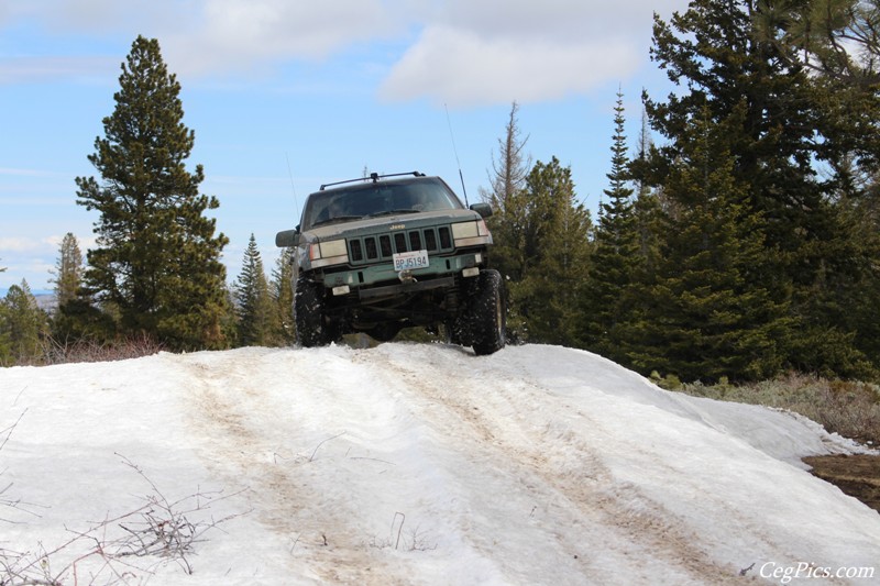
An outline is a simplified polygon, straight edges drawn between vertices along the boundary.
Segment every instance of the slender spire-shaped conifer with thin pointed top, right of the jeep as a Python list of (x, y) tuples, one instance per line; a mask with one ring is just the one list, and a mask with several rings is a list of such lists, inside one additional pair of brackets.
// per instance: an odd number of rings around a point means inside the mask
[(598, 225), (587, 287), (584, 295), (583, 344), (615, 361), (624, 361), (618, 324), (626, 323), (631, 310), (629, 289), (642, 259), (632, 189), (628, 187), (628, 157), (624, 125), (624, 97), (618, 91), (614, 112), (615, 132), (612, 145), (609, 188), (604, 190), (608, 202), (600, 206)]

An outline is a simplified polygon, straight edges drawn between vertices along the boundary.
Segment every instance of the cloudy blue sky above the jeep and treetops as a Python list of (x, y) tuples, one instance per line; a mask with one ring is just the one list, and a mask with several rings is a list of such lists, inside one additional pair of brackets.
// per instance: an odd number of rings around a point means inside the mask
[[(595, 210), (607, 187), (616, 93), (635, 145), (653, 12), (685, 0), (0, 0), (0, 291), (50, 290), (67, 232), (84, 254), (97, 212), (77, 176), (112, 113), (134, 38), (155, 37), (183, 87), (188, 161), (220, 200), (235, 279), (253, 233), (275, 233), (322, 183), (370, 172), (440, 175), (471, 202), (488, 186), (514, 100), (534, 161), (572, 169)], [(448, 114), (447, 114), (448, 112)], [(450, 126), (452, 132), (450, 132)], [(454, 148), (453, 148), (454, 137)], [(457, 156), (458, 153), (458, 156)]]

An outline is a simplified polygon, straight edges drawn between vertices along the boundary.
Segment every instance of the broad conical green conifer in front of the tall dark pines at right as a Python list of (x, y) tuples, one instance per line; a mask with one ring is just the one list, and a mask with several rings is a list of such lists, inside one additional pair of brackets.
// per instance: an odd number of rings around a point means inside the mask
[(705, 109), (680, 137), (664, 185), (678, 206), (663, 215), (662, 262), (641, 296), (644, 320), (628, 332), (641, 343), (630, 360), (646, 374), (757, 379), (783, 365), (788, 308), (754, 278), (767, 228), (749, 211), (727, 143), (728, 126), (740, 122), (712, 124)]

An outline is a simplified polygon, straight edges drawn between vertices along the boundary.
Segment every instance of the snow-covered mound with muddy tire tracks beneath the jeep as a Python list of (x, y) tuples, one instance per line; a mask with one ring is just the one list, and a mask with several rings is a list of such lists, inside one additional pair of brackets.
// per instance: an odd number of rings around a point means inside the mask
[(0, 430), (0, 582), (880, 581), (880, 515), (800, 462), (858, 446), (562, 347), (6, 368)]

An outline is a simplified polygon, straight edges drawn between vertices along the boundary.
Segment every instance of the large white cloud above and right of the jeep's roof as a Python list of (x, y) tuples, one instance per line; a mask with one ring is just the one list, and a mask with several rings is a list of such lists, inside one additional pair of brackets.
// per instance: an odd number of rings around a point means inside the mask
[(418, 41), (381, 96), (460, 106), (558, 99), (634, 75), (648, 59), (653, 11), (686, 0), (449, 0), (421, 11)]

